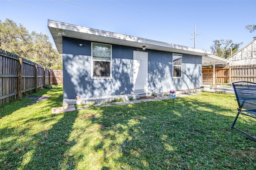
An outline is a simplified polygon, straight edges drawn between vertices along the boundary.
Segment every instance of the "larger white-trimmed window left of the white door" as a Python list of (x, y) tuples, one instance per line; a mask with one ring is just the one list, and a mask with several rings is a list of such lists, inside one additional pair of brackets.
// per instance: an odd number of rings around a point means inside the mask
[(108, 44), (92, 43), (92, 77), (110, 78), (112, 46)]

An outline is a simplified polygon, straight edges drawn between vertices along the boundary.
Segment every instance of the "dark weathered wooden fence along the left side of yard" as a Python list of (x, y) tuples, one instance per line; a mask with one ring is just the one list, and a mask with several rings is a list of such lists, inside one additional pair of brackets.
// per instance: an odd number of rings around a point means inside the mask
[(38, 88), (44, 88), (47, 84), (63, 84), (61, 76), (62, 70), (48, 69), (0, 49), (0, 105), (37, 92)]

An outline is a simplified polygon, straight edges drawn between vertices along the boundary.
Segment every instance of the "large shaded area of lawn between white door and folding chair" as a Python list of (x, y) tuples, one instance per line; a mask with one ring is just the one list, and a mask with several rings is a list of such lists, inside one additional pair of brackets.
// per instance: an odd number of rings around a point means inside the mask
[[(221, 169), (236, 168), (237, 162), (242, 163), (241, 168), (255, 165), (256, 152), (248, 150), (254, 141), (230, 130), (236, 113), (225, 113), (235, 112), (234, 108), (186, 97), (175, 102), (174, 109), (172, 100), (106, 107), (101, 117), (91, 117), (92, 123), (100, 122), (104, 136), (91, 151), (104, 152), (98, 160), (102, 169), (112, 169), (111, 162), (128, 169)], [(242, 151), (236, 155), (234, 150)]]

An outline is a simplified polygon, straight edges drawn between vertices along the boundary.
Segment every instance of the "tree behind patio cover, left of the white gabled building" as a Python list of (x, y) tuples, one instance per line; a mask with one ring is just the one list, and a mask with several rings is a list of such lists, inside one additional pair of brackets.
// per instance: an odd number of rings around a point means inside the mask
[(211, 45), (210, 49), (212, 50), (213, 54), (222, 57), (222, 58), (228, 58), (231, 56), (231, 49), (232, 53), (236, 53), (243, 43), (233, 43), (232, 40), (214, 40), (213, 45)]

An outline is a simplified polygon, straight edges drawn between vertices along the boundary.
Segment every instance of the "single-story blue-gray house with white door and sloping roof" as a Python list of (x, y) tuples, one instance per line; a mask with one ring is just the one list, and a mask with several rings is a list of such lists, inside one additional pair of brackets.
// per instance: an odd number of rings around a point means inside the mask
[(48, 28), (63, 56), (64, 99), (198, 88), (210, 61), (202, 49), (52, 20)]

